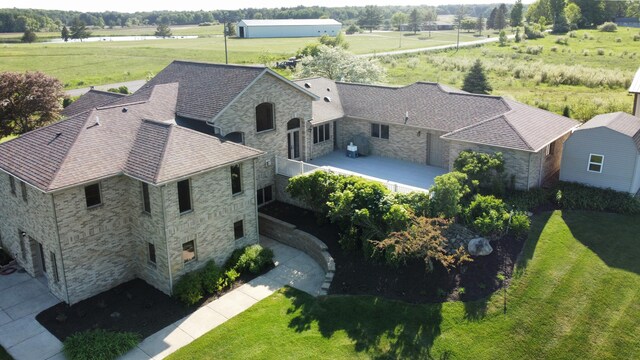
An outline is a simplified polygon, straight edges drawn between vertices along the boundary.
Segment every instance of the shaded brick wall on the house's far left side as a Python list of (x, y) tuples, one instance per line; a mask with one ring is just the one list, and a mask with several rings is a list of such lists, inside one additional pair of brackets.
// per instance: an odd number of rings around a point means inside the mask
[[(51, 292), (60, 300), (66, 301), (66, 283), (64, 268), (62, 266), (62, 254), (56, 231), (55, 213), (52, 196), (40, 190), (26, 185), (27, 202), (22, 199), (20, 180), (15, 179), (16, 194), (11, 194), (9, 183), (10, 175), (0, 172), (0, 238), (2, 246), (11, 253), (20, 266), (32, 276), (35, 273), (34, 261), (39, 262), (36, 247), (29, 246), (29, 237), (42, 244), (45, 252), (44, 274), (49, 283)], [(26, 238), (20, 236), (20, 231), (27, 234)], [(22, 256), (20, 242), (24, 244), (26, 251)], [(53, 279), (51, 268), (51, 252), (55, 254), (58, 269), (59, 282)]]

